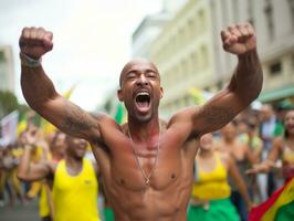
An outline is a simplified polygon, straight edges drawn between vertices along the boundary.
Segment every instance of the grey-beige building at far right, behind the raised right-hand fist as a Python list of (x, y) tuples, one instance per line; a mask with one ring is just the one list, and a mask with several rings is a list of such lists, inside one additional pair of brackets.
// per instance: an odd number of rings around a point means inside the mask
[[(211, 8), (213, 30), (242, 21), (253, 24), (264, 73), (259, 99), (270, 103), (293, 99), (294, 0), (212, 0)], [(213, 38), (218, 34), (214, 33)], [(223, 84), (229, 81), (235, 62), (228, 55), (222, 56), (220, 44), (214, 44), (217, 70), (220, 70), (219, 80)]]

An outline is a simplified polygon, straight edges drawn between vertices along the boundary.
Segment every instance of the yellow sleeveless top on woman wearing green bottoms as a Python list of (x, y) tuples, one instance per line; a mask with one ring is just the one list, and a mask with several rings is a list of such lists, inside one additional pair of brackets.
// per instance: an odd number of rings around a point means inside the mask
[(214, 154), (214, 160), (216, 167), (212, 171), (201, 171), (196, 167), (197, 181), (192, 189), (193, 198), (201, 200), (217, 200), (230, 197), (231, 188), (227, 180), (227, 168), (223, 166), (218, 154)]

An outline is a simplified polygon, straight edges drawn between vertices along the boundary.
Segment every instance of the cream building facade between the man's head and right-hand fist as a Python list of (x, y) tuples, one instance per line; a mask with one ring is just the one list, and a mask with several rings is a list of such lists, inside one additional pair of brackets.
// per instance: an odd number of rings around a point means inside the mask
[[(195, 104), (189, 91), (208, 88), (216, 80), (210, 1), (188, 1), (151, 44), (150, 59), (161, 74), (160, 114)], [(212, 84), (213, 85), (213, 84)]]

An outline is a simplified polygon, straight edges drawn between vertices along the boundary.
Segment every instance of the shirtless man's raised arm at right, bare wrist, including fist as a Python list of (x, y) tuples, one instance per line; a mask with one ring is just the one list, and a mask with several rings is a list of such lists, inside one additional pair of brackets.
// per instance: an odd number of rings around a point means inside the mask
[(192, 114), (193, 133), (206, 134), (228, 124), (260, 94), (262, 67), (256, 52), (253, 28), (230, 25), (221, 32), (223, 49), (238, 56), (238, 65), (229, 86)]

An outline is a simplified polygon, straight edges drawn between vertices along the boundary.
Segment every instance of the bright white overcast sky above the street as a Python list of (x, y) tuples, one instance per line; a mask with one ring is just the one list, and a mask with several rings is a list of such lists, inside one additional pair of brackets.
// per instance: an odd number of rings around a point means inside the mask
[(160, 0), (0, 0), (0, 44), (13, 48), (19, 101), (24, 101), (18, 59), (23, 27), (53, 32), (53, 51), (43, 57), (46, 73), (60, 93), (76, 84), (71, 101), (93, 110), (117, 87), (132, 33), (160, 9)]

